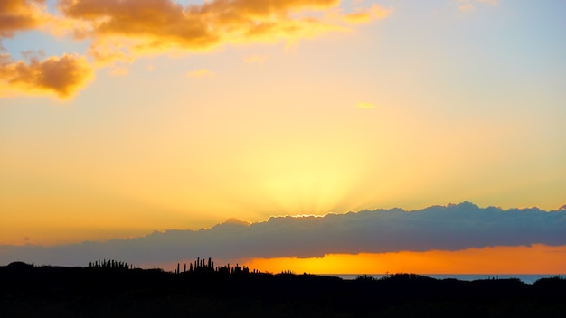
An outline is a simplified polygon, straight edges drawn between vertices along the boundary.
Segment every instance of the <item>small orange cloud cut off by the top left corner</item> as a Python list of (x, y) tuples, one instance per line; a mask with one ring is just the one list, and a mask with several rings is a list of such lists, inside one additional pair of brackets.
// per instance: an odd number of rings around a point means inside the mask
[(0, 37), (12, 37), (44, 23), (44, 7), (45, 0), (0, 1)]

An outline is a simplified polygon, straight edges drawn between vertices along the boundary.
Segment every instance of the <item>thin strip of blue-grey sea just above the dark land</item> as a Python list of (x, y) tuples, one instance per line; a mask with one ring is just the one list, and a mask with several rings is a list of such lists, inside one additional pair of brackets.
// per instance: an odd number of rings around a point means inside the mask
[[(357, 275), (346, 275), (346, 274), (325, 274), (322, 276), (336, 276), (336, 277), (340, 277), (342, 279), (356, 279), (358, 276), (361, 276), (361, 274), (357, 274)], [(373, 277), (375, 279), (380, 279), (383, 277), (388, 276), (387, 274), (372, 274), (372, 275), (366, 275), (366, 276), (370, 276)], [(519, 280), (521, 280), (522, 282), (524, 282), (525, 284), (533, 284), (534, 282), (536, 282), (537, 280), (541, 279), (541, 278), (548, 278), (548, 277), (555, 277), (555, 276), (561, 276), (561, 277), (566, 277), (565, 275), (550, 275), (550, 274), (529, 274), (529, 275), (516, 275), (516, 274), (467, 274), (467, 275), (456, 275), (456, 274), (422, 274), (422, 276), (429, 276), (432, 278), (436, 278), (436, 279), (446, 279), (446, 278), (456, 278), (458, 280), (464, 280), (464, 281), (472, 281), (472, 280), (480, 280), (480, 279), (506, 279), (506, 278), (519, 278)]]

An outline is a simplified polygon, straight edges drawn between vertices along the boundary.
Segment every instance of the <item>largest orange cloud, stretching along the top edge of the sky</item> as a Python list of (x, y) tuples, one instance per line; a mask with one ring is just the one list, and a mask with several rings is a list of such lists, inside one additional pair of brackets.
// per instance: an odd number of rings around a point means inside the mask
[(66, 18), (87, 23), (77, 23), (74, 36), (92, 38), (90, 56), (111, 64), (163, 51), (211, 50), (224, 43), (297, 42), (391, 13), (373, 5), (359, 13), (363, 17), (336, 18), (332, 9), (339, 5), (339, 0), (214, 0), (187, 6), (173, 0), (61, 0), (59, 8)]

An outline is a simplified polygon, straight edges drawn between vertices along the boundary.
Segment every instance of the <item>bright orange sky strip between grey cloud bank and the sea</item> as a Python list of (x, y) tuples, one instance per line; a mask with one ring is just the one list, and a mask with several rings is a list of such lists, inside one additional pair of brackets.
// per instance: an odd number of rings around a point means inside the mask
[(566, 273), (566, 246), (467, 248), (458, 251), (328, 254), (325, 257), (253, 258), (241, 266), (296, 274), (550, 274)]

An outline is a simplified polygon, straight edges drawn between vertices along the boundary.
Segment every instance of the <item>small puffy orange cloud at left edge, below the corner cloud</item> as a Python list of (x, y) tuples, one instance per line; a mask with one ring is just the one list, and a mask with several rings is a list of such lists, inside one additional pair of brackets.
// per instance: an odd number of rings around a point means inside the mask
[(7, 90), (47, 92), (61, 99), (70, 98), (93, 74), (86, 59), (74, 54), (52, 56), (43, 61), (32, 57), (27, 62), (13, 61), (8, 54), (0, 54), (0, 85)]

